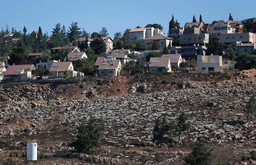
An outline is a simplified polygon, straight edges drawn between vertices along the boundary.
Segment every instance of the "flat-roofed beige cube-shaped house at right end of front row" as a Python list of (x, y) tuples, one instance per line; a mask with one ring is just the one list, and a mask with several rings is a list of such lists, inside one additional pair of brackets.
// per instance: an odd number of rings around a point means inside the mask
[(221, 71), (222, 70), (222, 56), (197, 55), (197, 70), (198, 72)]

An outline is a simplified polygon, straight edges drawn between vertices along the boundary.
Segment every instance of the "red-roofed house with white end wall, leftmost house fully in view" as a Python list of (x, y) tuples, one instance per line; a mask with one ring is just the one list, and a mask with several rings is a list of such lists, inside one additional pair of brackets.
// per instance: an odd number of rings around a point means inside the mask
[(32, 78), (33, 64), (30, 65), (9, 65), (4, 73), (5, 81), (29, 80)]

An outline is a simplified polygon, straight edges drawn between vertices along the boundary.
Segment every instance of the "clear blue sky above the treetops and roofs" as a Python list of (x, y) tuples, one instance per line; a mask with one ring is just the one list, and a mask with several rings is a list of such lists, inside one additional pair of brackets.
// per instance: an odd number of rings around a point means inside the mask
[(238, 20), (256, 17), (255, 0), (12, 0), (2, 1), (0, 10), (0, 28), (9, 30), (15, 27), (27, 32), (38, 30), (51, 34), (57, 23), (68, 26), (78, 22), (78, 26), (89, 33), (107, 27), (110, 37), (116, 31), (124, 32), (127, 28), (144, 27), (150, 23), (161, 24), (167, 34), (171, 14), (181, 26), (191, 22), (193, 14), (199, 20), (199, 14), (205, 23), (213, 20), (227, 20), (229, 13)]

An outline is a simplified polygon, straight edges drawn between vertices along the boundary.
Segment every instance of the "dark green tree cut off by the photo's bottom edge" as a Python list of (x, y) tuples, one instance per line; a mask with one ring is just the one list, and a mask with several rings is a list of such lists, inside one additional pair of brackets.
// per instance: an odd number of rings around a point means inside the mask
[(192, 152), (185, 157), (184, 161), (190, 165), (210, 165), (212, 150), (205, 148), (203, 141), (198, 141), (193, 145)]

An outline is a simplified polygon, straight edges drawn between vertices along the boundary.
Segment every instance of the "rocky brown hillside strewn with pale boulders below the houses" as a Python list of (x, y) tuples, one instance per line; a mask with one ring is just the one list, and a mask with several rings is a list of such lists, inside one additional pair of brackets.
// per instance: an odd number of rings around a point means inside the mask
[[(247, 124), (243, 113), (256, 93), (255, 75), (255, 70), (214, 75), (183, 71), (89, 77), (80, 84), (0, 86), (0, 156), (14, 150), (14, 136), (19, 155), (24, 152), (25, 129), (30, 130), (29, 139), (37, 139), (40, 154), (50, 157), (52, 150), (69, 150), (67, 143), (76, 137), (78, 125), (94, 116), (105, 126), (103, 145), (73, 163), (183, 164), (198, 139), (205, 139), (213, 149), (213, 164), (241, 163), (241, 155), (248, 155), (256, 145), (256, 120)], [(182, 111), (190, 128), (182, 133), (180, 143), (172, 132), (171, 144), (152, 147), (156, 118), (166, 113), (167, 120), (175, 123)], [(48, 164), (49, 159), (37, 163)]]

